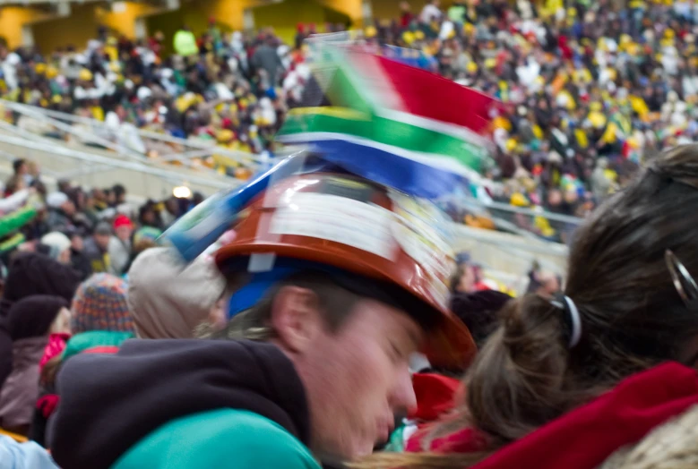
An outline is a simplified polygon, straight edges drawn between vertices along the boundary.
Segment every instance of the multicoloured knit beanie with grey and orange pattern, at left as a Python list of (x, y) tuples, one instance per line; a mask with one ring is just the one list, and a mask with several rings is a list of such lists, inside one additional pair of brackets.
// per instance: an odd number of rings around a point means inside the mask
[(73, 298), (73, 334), (90, 330), (134, 332), (134, 320), (126, 303), (126, 283), (109, 274), (85, 280)]

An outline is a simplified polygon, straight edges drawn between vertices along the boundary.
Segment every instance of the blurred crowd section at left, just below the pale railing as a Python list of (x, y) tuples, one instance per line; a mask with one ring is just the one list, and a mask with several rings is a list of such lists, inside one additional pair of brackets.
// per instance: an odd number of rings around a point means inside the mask
[(41, 252), (73, 267), (80, 279), (123, 276), (139, 253), (157, 246), (168, 226), (203, 201), (194, 192), (134, 209), (118, 183), (83, 190), (59, 181), (56, 191), (47, 192), (36, 164), (16, 159), (13, 170), (0, 205), (0, 262), (4, 266), (17, 252)]

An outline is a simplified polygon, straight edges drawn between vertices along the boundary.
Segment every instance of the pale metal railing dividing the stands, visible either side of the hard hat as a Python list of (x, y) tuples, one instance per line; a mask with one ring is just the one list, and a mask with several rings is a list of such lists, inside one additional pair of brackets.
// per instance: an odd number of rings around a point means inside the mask
[[(232, 158), (241, 165), (250, 167), (253, 172), (264, 163), (260, 155), (225, 149), (217, 146), (212, 141), (197, 140), (195, 138), (181, 139), (165, 133), (151, 132), (134, 127), (134, 132), (142, 140), (145, 147), (145, 152), (142, 152), (125, 145), (119, 137), (118, 130), (115, 131), (107, 124), (89, 117), (61, 113), (3, 99), (0, 99), (0, 106), (10, 109), (20, 116), (35, 119), (39, 124), (37, 126), (38, 131), (32, 132), (30, 125), (20, 128), (17, 125), (0, 121), (0, 129), (2, 130), (31, 141), (40, 141), (47, 145), (56, 145), (56, 138), (65, 140), (65, 137), (72, 136), (78, 141), (82, 141), (83, 144), (92, 147), (97, 146), (100, 152), (102, 152), (101, 150), (108, 151), (108, 153), (97, 155), (97, 150), (95, 150), (94, 156), (97, 159), (93, 161), (97, 162), (98, 159), (100, 161), (97, 166), (73, 168), (67, 170), (63, 175), (56, 175), (59, 178), (96, 173), (99, 172), (100, 168), (114, 167), (114, 164), (112, 164), (114, 158), (110, 158), (112, 154), (124, 158), (120, 160), (122, 163), (131, 162), (136, 165), (145, 165), (129, 166), (130, 169), (135, 170), (136, 167), (142, 167), (144, 168), (143, 172), (162, 175), (166, 178), (168, 177), (168, 171), (163, 169), (162, 166), (159, 166), (157, 170), (145, 168), (151, 168), (152, 166), (148, 166), (151, 163), (172, 163), (177, 161), (181, 166), (189, 167), (194, 174), (198, 174), (198, 176), (188, 177), (190, 181), (196, 179), (202, 183), (211, 183), (209, 179), (211, 176), (211, 179), (220, 181), (220, 175), (208, 167), (195, 165), (194, 158), (221, 155)], [(157, 149), (157, 157), (149, 158), (147, 156), (147, 154), (151, 153), (151, 149)], [(66, 151), (70, 153), (66, 145), (62, 146), (61, 151), (64, 154), (67, 154), (65, 153)], [(78, 158), (85, 158), (87, 153), (92, 154), (92, 151), (77, 150), (76, 155), (81, 155)], [(87, 159), (84, 160), (87, 161)], [(121, 165), (121, 163), (118, 165)], [(181, 180), (181, 175), (178, 176), (178, 179)], [(238, 183), (240, 183), (239, 180), (228, 178), (228, 182), (220, 184), (220, 187), (231, 187)], [(216, 183), (213, 183), (213, 185), (216, 185)], [(514, 207), (506, 203), (482, 202), (472, 198), (461, 200), (461, 202), (461, 207), (458, 208), (459, 213), (454, 217), (457, 222), (463, 221), (464, 214), (475, 214), (479, 217), (491, 219), (498, 230), (521, 235), (523, 238), (544, 239), (555, 243), (569, 242), (574, 229), (583, 221), (579, 217), (569, 217), (539, 209)]]

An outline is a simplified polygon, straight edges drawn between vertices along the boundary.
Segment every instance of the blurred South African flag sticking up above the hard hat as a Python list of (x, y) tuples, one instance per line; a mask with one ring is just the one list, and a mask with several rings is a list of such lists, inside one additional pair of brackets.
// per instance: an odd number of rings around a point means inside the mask
[(316, 99), (331, 106), (292, 109), (279, 141), (310, 143), (352, 172), (421, 197), (478, 183), (494, 98), (356, 47), (325, 45), (318, 56)]

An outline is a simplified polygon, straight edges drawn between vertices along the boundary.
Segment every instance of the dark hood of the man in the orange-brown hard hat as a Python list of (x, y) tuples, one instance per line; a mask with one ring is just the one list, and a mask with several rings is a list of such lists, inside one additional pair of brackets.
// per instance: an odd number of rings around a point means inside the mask
[(306, 392), (271, 344), (229, 340), (127, 340), (117, 354), (78, 355), (58, 375), (50, 424), (61, 467), (108, 467), (159, 426), (219, 408), (277, 422), (307, 445)]

